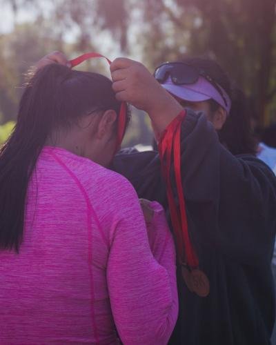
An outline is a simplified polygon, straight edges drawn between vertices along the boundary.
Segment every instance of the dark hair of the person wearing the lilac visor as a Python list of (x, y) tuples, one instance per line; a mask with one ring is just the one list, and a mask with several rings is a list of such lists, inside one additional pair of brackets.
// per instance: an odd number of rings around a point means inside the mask
[[(221, 88), (227, 92), (231, 99), (232, 106), (224, 126), (219, 130), (219, 141), (225, 144), (233, 155), (256, 153), (256, 141), (250, 130), (250, 119), (248, 117), (248, 108), (244, 92), (237, 88), (228, 75), (219, 64), (208, 58), (190, 58), (183, 59), (190, 66), (195, 66), (204, 70)], [(219, 108), (219, 104), (210, 99), (210, 109), (212, 111)]]

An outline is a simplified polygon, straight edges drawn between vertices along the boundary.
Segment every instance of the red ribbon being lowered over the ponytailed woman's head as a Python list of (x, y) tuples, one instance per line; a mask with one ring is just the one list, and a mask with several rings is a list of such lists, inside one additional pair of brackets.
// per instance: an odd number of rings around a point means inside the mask
[[(79, 65), (79, 63), (82, 63), (83, 61), (86, 61), (87, 59), (91, 59), (93, 57), (103, 57), (104, 59), (106, 59), (106, 61), (108, 61), (109, 64), (111, 64), (110, 59), (108, 59), (107, 57), (99, 54), (98, 52), (87, 52), (86, 54), (83, 54), (79, 57), (76, 57), (75, 59), (72, 59), (70, 61), (71, 63), (71, 67), (75, 67), (77, 65)], [(117, 149), (119, 149), (119, 147), (121, 146), (121, 142), (124, 139), (124, 134), (126, 131), (126, 115), (127, 115), (127, 111), (128, 108), (126, 106), (126, 102), (122, 102), (121, 103), (121, 108), (119, 111), (119, 117), (118, 117), (118, 130), (117, 130)]]

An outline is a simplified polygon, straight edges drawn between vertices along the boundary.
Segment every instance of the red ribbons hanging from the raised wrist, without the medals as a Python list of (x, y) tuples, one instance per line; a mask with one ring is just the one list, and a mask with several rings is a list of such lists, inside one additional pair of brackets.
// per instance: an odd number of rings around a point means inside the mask
[[(161, 168), (166, 180), (168, 206), (170, 209), (170, 217), (172, 219), (172, 228), (175, 233), (177, 242), (177, 255), (180, 264), (187, 264), (190, 268), (199, 266), (199, 259), (193, 244), (190, 241), (188, 233), (188, 223), (186, 215), (186, 205), (183, 194), (183, 186), (181, 180), (181, 124), (186, 117), (186, 111), (180, 114), (168, 125), (159, 141), (159, 154), (161, 159)], [(174, 164), (175, 180), (177, 186), (177, 196), (179, 199), (179, 209), (172, 193), (172, 185), (170, 181), (170, 168)]]

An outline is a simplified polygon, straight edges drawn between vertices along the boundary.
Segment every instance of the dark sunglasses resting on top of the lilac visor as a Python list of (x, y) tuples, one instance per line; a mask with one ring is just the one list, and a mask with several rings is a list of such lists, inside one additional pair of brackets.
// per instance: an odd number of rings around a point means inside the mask
[(153, 76), (159, 83), (164, 83), (168, 77), (172, 79), (175, 85), (185, 85), (196, 83), (199, 77), (204, 77), (221, 95), (226, 106), (228, 106), (223, 92), (217, 86), (217, 83), (204, 72), (194, 66), (190, 66), (184, 62), (166, 62), (156, 68)]

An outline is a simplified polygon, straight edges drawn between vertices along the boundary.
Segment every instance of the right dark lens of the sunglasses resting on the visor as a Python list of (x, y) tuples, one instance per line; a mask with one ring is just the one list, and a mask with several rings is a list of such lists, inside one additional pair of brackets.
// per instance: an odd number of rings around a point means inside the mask
[(199, 78), (199, 72), (192, 66), (177, 63), (171, 70), (170, 77), (176, 85), (192, 84)]

